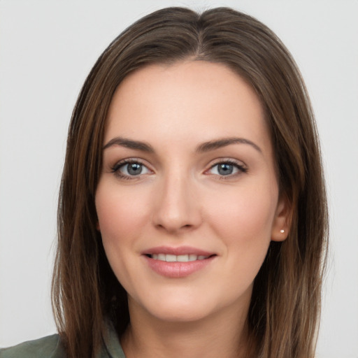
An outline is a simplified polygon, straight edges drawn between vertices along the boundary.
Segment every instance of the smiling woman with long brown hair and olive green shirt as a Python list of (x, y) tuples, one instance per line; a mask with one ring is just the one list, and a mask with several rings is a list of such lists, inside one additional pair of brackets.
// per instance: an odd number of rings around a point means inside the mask
[(0, 357), (313, 357), (327, 203), (289, 52), (227, 8), (167, 8), (99, 57), (73, 112), (59, 336)]

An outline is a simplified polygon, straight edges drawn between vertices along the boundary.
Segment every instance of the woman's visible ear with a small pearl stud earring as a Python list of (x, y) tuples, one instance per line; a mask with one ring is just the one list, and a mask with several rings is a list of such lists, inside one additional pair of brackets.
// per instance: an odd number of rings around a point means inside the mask
[(272, 224), (271, 240), (286, 240), (292, 220), (292, 205), (289, 203), (287, 196), (282, 195), (278, 200), (278, 206), (275, 212), (275, 218)]

